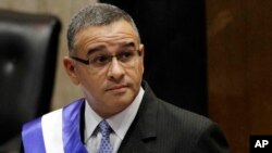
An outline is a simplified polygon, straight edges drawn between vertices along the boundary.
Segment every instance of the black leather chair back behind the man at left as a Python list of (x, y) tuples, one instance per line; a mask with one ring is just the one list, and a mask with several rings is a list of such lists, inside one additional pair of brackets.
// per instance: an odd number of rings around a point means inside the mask
[(52, 15), (0, 11), (0, 145), (49, 112), (60, 30)]

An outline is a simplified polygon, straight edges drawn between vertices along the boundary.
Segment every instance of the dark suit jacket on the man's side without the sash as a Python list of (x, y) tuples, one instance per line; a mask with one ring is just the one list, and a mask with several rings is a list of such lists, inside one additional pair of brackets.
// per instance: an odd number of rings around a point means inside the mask
[(226, 153), (217, 124), (158, 99), (144, 84), (145, 95), (119, 153)]

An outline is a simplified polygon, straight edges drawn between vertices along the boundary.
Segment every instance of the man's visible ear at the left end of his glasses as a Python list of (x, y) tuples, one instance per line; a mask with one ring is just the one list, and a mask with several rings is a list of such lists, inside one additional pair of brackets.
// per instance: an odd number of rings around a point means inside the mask
[(64, 56), (63, 65), (65, 67), (65, 71), (66, 71), (70, 79), (73, 81), (73, 84), (78, 85), (79, 79), (76, 75), (76, 68), (75, 68), (75, 64), (73, 63), (73, 61), (69, 56)]

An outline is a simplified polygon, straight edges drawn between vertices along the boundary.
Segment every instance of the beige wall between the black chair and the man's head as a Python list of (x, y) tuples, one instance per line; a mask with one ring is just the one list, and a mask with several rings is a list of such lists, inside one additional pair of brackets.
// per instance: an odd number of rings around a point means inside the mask
[(52, 110), (79, 98), (78, 87), (75, 87), (66, 76), (62, 66), (62, 58), (67, 53), (65, 29), (73, 14), (87, 3), (97, 0), (0, 0), (0, 9), (30, 13), (50, 13), (59, 16), (62, 23), (55, 84), (52, 98)]

